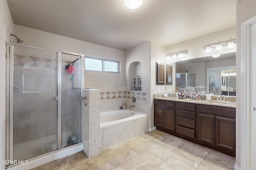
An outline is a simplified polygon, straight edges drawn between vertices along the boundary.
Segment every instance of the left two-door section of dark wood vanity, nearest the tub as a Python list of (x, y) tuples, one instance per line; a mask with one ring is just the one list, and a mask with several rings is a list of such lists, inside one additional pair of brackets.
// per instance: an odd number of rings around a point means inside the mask
[(175, 131), (175, 102), (154, 100), (154, 125)]

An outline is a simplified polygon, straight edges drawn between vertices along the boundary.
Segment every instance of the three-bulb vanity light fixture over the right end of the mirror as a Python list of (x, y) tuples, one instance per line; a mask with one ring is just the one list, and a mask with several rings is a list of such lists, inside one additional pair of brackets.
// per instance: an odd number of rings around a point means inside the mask
[(232, 49), (232, 48), (236, 48), (236, 39), (231, 39), (228, 41), (218, 41), (218, 43), (215, 44), (209, 44), (206, 45), (204, 47), (204, 52), (205, 53), (210, 53), (212, 52), (212, 49), (214, 49), (214, 51), (221, 51), (223, 49), (223, 47), (226, 47), (226, 49)]

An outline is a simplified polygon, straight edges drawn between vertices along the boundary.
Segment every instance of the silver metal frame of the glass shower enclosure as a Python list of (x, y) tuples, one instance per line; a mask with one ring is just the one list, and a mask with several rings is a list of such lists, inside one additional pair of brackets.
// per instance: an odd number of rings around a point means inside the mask
[[(14, 45), (16, 46), (22, 46), (22, 47), (28, 47), (28, 48), (34, 48), (34, 49), (40, 49), (40, 50), (47, 50), (57, 53), (57, 149), (62, 149), (62, 120), (61, 120), (61, 80), (62, 80), (62, 61), (61, 61), (61, 54), (68, 54), (68, 55), (75, 55), (78, 56), (78, 59), (81, 59), (81, 142), (82, 143), (82, 116), (83, 116), (83, 110), (82, 110), (82, 93), (84, 88), (84, 62), (85, 62), (85, 55), (78, 54), (78, 53), (70, 53), (70, 52), (64, 52), (64, 51), (57, 51), (53, 49), (46, 49), (41, 47), (34, 47), (30, 45), (22, 45), (18, 43), (10, 43), (6, 42), (6, 160), (13, 160), (13, 73), (14, 73), (14, 65), (13, 65), (13, 55), (14, 55)], [(12, 56), (12, 57), (10, 57)], [(74, 144), (78, 145), (80, 143)], [(70, 145), (69, 148), (74, 145)], [(63, 148), (63, 149), (64, 149)], [(56, 152), (56, 150), (53, 150), (51, 152), (47, 152), (44, 154), (41, 154), (39, 156), (35, 156), (33, 158), (29, 158), (28, 161), (34, 160), (36, 158), (40, 158), (42, 156), (46, 156), (48, 154), (51, 154), (52, 152)], [(15, 166), (14, 164), (6, 164), (6, 167), (12, 167)]]

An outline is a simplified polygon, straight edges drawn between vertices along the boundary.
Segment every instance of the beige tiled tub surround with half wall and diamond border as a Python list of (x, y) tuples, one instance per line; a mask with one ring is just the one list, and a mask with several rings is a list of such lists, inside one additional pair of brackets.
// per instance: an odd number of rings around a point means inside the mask
[[(100, 112), (120, 109), (120, 106), (125, 103), (127, 108), (135, 104), (136, 107), (133, 110), (148, 114), (149, 86), (142, 86), (142, 91), (131, 92), (125, 91), (125, 89), (129, 89), (125, 86), (86, 86), (86, 88), (83, 90), (83, 97), (87, 97), (87, 106), (84, 106), (83, 103), (83, 142), (84, 152), (88, 157), (99, 154), (100, 150), (106, 149), (107, 146), (116, 145), (148, 131), (148, 116), (107, 127), (109, 130), (117, 128), (117, 126), (120, 127), (122, 131), (119, 129), (115, 134), (121, 134), (121, 136), (116, 136), (112, 144), (108, 143), (102, 146), (102, 135), (106, 129), (100, 129)], [(132, 103), (132, 96), (136, 98), (136, 103)], [(130, 127), (129, 131), (127, 131), (127, 127)], [(122, 134), (126, 131), (126, 134)]]

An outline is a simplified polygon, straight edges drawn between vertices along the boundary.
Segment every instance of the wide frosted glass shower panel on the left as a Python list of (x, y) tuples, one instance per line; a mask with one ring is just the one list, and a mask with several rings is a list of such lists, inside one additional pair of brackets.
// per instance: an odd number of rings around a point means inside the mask
[(10, 45), (13, 160), (27, 160), (57, 149), (56, 67), (56, 52)]

